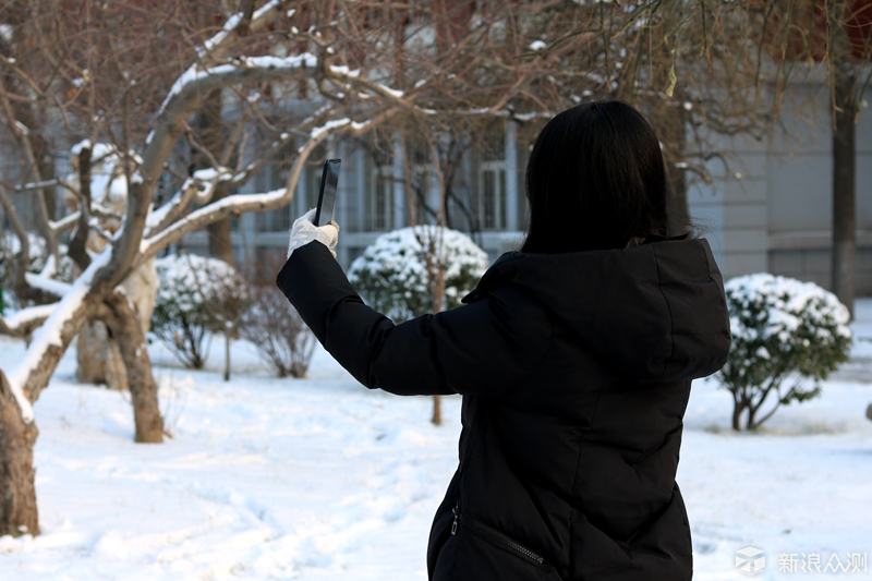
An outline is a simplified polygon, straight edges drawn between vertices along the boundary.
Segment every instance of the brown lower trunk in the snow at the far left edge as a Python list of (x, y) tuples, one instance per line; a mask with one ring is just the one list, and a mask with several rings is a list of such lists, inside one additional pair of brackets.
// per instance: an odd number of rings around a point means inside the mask
[(38, 432), (25, 423), (0, 371), (0, 536), (39, 534), (34, 484), (34, 444)]

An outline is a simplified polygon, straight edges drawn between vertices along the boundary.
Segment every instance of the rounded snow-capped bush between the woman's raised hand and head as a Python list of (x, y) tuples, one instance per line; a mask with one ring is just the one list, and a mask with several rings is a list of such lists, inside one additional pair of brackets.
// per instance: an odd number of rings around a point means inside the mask
[(487, 266), (487, 254), (467, 234), (416, 226), (378, 237), (351, 264), (349, 279), (370, 306), (402, 323), (436, 311), (429, 283), (439, 269), (445, 271), (448, 310), (460, 306)]

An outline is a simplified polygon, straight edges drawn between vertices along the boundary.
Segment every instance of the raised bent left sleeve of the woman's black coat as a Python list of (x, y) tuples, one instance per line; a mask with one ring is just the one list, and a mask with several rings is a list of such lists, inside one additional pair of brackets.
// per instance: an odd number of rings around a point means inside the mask
[(393, 325), (363, 303), (320, 243), (295, 250), (276, 282), (349, 373), (391, 394), (508, 392), (535, 373), (550, 341), (544, 308), (511, 286)]

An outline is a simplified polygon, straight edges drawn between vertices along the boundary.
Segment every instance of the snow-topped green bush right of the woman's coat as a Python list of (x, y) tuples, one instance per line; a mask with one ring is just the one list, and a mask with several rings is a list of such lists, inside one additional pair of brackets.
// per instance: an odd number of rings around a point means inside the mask
[(791, 278), (748, 275), (725, 289), (732, 346), (717, 379), (732, 394), (734, 429), (754, 429), (779, 406), (820, 395), (820, 380), (848, 359), (850, 315), (833, 293)]

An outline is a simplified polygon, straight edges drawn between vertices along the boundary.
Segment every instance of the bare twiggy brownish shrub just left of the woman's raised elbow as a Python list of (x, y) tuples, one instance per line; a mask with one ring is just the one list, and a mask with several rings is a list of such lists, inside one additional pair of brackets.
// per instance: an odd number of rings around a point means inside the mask
[(239, 327), (278, 377), (305, 377), (315, 350), (315, 336), (275, 287), (254, 287), (252, 307)]

